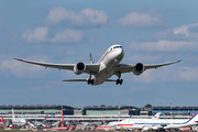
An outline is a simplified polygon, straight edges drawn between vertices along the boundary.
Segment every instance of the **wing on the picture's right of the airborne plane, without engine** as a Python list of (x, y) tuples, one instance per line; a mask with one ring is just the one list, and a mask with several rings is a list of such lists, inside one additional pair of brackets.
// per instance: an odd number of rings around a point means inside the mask
[[(153, 65), (144, 65), (145, 69), (151, 69), (151, 68), (158, 68), (162, 66), (167, 66), (172, 65), (175, 63), (179, 63), (180, 61), (172, 62), (172, 63), (164, 63), (164, 64), (153, 64)], [(133, 67), (135, 65), (128, 65), (128, 64), (120, 64), (119, 67), (117, 67), (116, 73), (130, 73), (133, 72)]]

